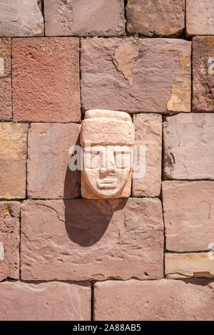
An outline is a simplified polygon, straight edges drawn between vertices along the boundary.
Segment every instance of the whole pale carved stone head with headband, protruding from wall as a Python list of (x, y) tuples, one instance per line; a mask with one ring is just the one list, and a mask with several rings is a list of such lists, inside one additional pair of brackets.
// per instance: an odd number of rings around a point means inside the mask
[(134, 125), (114, 110), (88, 110), (81, 125), (81, 195), (87, 199), (129, 197)]

